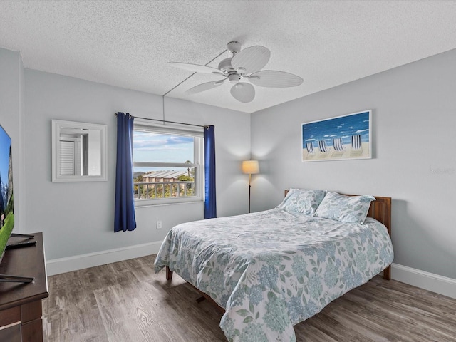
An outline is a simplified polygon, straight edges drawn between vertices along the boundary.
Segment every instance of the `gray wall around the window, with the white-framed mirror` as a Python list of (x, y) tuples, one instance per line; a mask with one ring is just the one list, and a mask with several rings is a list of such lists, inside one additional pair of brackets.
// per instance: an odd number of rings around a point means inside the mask
[[(161, 119), (162, 97), (30, 69), (24, 75), (26, 230), (43, 232), (46, 259), (159, 242), (175, 224), (204, 217), (201, 202), (142, 207), (135, 231), (114, 234), (114, 113)], [(217, 214), (247, 212), (248, 178), (240, 165), (250, 157), (250, 115), (172, 98), (165, 98), (165, 115), (215, 125)], [(108, 182), (51, 182), (52, 119), (108, 125)]]

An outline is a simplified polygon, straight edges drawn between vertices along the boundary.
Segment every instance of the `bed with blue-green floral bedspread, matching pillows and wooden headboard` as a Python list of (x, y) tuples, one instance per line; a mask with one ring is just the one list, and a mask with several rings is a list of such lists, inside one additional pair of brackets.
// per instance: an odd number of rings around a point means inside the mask
[(292, 189), (274, 209), (179, 224), (155, 271), (222, 308), (228, 341), (293, 342), (297, 323), (381, 271), (390, 279), (391, 199), (373, 199)]

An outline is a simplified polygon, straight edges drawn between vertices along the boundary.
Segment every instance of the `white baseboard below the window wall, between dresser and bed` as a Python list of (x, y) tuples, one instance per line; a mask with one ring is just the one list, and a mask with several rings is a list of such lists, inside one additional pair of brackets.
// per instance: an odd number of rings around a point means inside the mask
[(106, 251), (80, 254), (73, 257), (53, 259), (46, 261), (48, 276), (61, 274), (78, 269), (110, 264), (138, 257), (145, 257), (150, 254), (157, 254), (162, 242), (149, 242), (147, 244), (136, 244), (135, 246), (108, 249)]

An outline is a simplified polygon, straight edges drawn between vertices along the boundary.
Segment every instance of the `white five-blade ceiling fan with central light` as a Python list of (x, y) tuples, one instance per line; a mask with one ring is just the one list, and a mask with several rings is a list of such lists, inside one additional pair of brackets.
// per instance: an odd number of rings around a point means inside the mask
[[(212, 73), (224, 77), (218, 81), (199, 84), (187, 90), (186, 93), (200, 93), (229, 82), (234, 83), (230, 90), (231, 95), (243, 103), (251, 102), (255, 98), (255, 88), (251, 83), (260, 87), (286, 88), (299, 86), (303, 82), (301, 77), (292, 73), (274, 70), (261, 71), (271, 56), (271, 51), (264, 46), (251, 46), (241, 50), (241, 43), (230, 41), (227, 43), (227, 50), (233, 56), (221, 61), (218, 69), (191, 63), (168, 62), (168, 64), (195, 73)], [(249, 81), (249, 83), (244, 81)]]

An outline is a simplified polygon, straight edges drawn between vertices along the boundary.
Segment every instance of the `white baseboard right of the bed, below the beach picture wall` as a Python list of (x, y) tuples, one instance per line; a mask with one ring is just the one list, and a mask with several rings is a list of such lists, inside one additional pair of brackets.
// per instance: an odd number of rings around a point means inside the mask
[(456, 279), (399, 264), (391, 265), (391, 278), (456, 299)]

